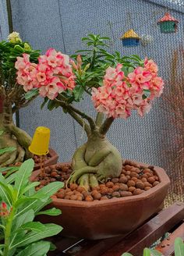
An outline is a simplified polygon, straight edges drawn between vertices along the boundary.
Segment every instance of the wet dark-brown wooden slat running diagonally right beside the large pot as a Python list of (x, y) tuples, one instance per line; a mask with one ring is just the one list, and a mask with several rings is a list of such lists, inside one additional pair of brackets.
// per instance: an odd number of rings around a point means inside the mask
[[(120, 256), (123, 252), (140, 256), (144, 247), (150, 247), (151, 244), (154, 244), (157, 239), (181, 222), (182, 219), (184, 219), (184, 203), (175, 203), (129, 234), (129, 236), (126, 236), (119, 244), (106, 251), (103, 256)], [(101, 254), (89, 254), (89, 256), (94, 255), (99, 256)], [(78, 254), (77, 256), (84, 256), (84, 254)]]

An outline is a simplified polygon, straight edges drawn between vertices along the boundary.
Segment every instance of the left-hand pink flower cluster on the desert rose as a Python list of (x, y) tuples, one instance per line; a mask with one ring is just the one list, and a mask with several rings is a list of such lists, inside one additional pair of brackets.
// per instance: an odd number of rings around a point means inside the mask
[(55, 99), (66, 89), (73, 90), (75, 76), (69, 64), (69, 56), (50, 48), (45, 55), (38, 58), (38, 64), (30, 62), (30, 55), (17, 57), (15, 67), (17, 83), (23, 85), (25, 91), (39, 88), (42, 97)]

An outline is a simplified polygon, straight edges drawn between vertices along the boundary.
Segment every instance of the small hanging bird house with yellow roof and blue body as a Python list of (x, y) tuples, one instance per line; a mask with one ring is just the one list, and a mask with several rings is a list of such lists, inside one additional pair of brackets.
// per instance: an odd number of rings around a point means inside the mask
[(122, 40), (122, 45), (126, 47), (138, 46), (140, 44), (140, 37), (133, 30), (126, 31), (120, 39)]

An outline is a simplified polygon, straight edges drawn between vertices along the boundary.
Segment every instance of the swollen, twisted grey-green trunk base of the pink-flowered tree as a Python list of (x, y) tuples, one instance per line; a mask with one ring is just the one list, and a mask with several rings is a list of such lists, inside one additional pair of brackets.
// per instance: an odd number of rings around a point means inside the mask
[(122, 156), (100, 133), (92, 133), (73, 155), (73, 174), (69, 183), (78, 183), (87, 190), (98, 182), (118, 177), (122, 171)]

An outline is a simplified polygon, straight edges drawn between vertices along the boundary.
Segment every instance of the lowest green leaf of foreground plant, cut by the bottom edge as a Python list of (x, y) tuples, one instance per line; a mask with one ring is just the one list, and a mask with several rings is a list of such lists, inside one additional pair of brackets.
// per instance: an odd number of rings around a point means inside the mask
[(28, 245), (25, 249), (21, 250), (16, 256), (43, 256), (47, 254), (50, 249), (50, 242), (40, 241)]

